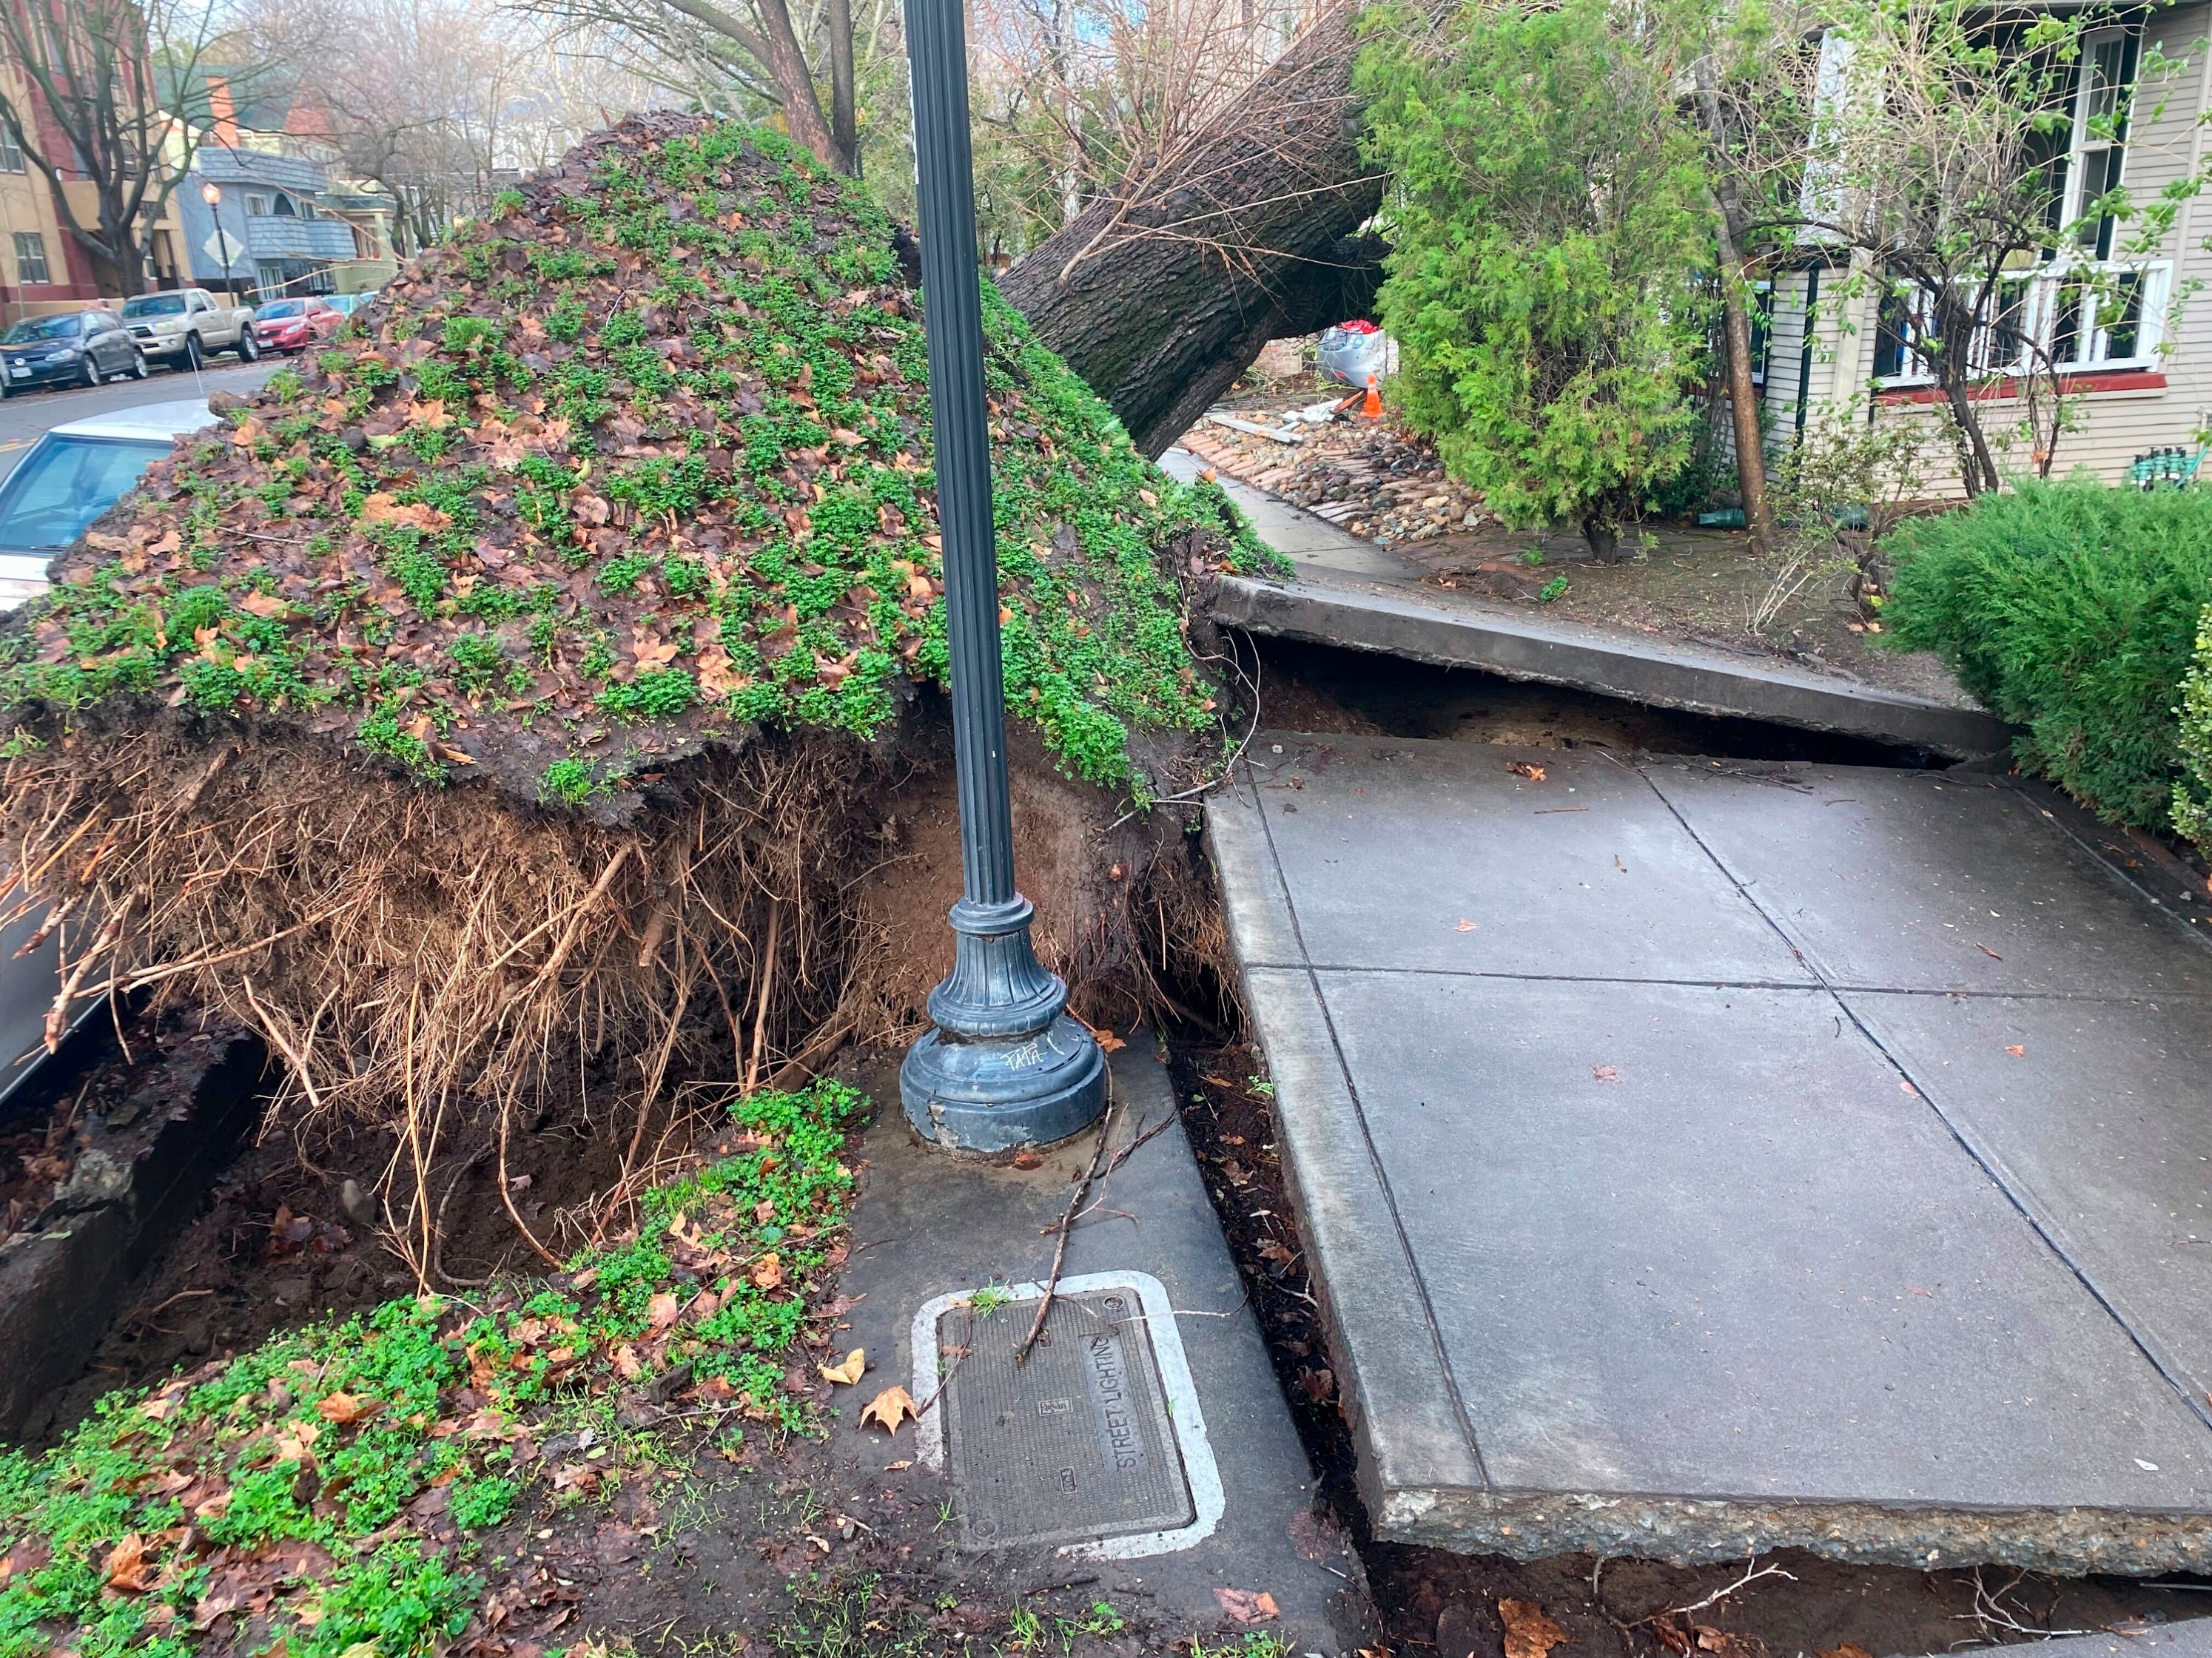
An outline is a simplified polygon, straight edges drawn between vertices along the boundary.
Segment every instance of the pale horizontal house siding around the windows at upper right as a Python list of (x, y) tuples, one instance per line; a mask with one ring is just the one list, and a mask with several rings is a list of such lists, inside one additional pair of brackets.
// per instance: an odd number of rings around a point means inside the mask
[[(2188, 57), (2188, 66), (2159, 86), (2139, 86), (2135, 119), (2128, 133), (2128, 155), (2121, 181), (2137, 201), (2150, 201), (2172, 179), (2201, 172), (2208, 159), (2208, 133), (2199, 122), (2203, 111), (2212, 111), (2212, 53), (2197, 42), (2212, 35), (2212, 4), (2185, 4), (2152, 13), (2143, 29), (2146, 46), (2159, 42), (2170, 57)], [(2152, 111), (2161, 104), (2161, 111)], [(2126, 234), (2126, 232), (2121, 232)], [(2174, 230), (2152, 254), (2172, 267), (2168, 292), (2183, 294), (2179, 314), (2168, 327), (2168, 351), (2157, 365), (2166, 385), (2135, 385), (2110, 391), (2088, 391), (2073, 400), (2075, 429), (2057, 447), (2057, 473), (2086, 469), (2108, 482), (2121, 482), (2128, 464), (2148, 449), (2194, 449), (2194, 433), (2212, 424), (2212, 252), (2205, 239), (2212, 237), (2212, 199), (2183, 203)], [(1816, 325), (1816, 351), (1807, 376), (1809, 422), (1818, 424), (1823, 407), (1829, 418), (1845, 416), (1867, 420), (1913, 420), (1927, 427), (1924, 449), (1927, 482), (1936, 495), (1958, 495), (1958, 464), (1951, 440), (1942, 422), (1924, 402), (1876, 398), (1869, 391), (1874, 365), (1874, 301), (1860, 296), (1849, 305), (1849, 314), (1838, 316), (1825, 301), (1843, 272), (1823, 272), (1823, 316)], [(2203, 283), (2203, 292), (2188, 296), (2190, 283)], [(1785, 332), (1803, 338), (1803, 294), (1805, 274), (1794, 272), (1776, 281), (1776, 347)], [(1794, 316), (1790, 316), (1794, 314)], [(1847, 332), (1849, 329), (1849, 332)], [(1787, 365), (1774, 360), (1765, 387), (1770, 444), (1781, 447), (1796, 431), (1796, 360)], [(2002, 438), (2020, 418), (2011, 400), (1991, 400), (1982, 407), (1984, 431), (1993, 440)], [(2004, 462), (2000, 462), (2004, 464)], [(2028, 455), (2017, 449), (2008, 464), (2026, 471)]]

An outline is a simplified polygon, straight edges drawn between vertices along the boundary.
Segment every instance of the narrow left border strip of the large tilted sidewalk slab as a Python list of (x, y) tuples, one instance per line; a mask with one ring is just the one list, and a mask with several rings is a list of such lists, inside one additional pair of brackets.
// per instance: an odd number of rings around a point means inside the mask
[[(1206, 807), (1221, 909), (1245, 1012), (1274, 1081), (1283, 1172), (1307, 1260), (1329, 1273), (1312, 1289), (1329, 1333), (1336, 1393), (1358, 1448), (1360, 1497), (1383, 1512), (1400, 1488), (1480, 1486), (1413, 1262), (1374, 1169), (1358, 1101), (1345, 1081), (1327, 1010), (1303, 966), (1250, 778)], [(1345, 1287), (1356, 1287), (1347, 1293)]]

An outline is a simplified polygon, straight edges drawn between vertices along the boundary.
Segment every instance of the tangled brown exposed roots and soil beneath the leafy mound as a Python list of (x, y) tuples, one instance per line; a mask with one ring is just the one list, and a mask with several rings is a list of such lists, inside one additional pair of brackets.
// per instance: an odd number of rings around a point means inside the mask
[[(71, 995), (219, 1008), (288, 1061), (272, 1116), (387, 1130), (369, 1183), (431, 1287), (465, 1165), (498, 1156), (502, 1207), (553, 1260), (619, 1227), (717, 1096), (918, 1024), (960, 878), (940, 736), (916, 716), (896, 745), (765, 736), (604, 822), (427, 789), (290, 727), (84, 725), (9, 760), (0, 858), (53, 906)], [(1015, 796), (1040, 951), (1077, 1004), (1177, 1006), (1181, 957), (1221, 948), (1183, 820), (1115, 822), (1042, 765)], [(622, 1156), (613, 1192), (549, 1234), (515, 1207), (507, 1147), (553, 1116)]]

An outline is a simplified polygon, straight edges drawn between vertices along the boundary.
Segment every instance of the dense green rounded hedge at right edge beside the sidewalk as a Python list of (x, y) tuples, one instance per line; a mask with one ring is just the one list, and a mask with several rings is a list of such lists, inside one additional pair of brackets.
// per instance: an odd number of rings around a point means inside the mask
[(1885, 619), (2000, 718), (2022, 767), (2106, 818), (2172, 827), (2174, 705), (2212, 601), (2212, 491), (2024, 484), (1916, 520)]

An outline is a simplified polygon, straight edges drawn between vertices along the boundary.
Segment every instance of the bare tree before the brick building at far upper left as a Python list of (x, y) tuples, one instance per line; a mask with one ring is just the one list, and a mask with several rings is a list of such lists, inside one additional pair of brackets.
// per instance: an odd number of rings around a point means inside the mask
[[(104, 292), (131, 296), (146, 285), (153, 225), (206, 124), (192, 88), (217, 18), (190, 0), (0, 0), (0, 53), (31, 86), (18, 102), (0, 82), (0, 124), (53, 186), (62, 228), (91, 256)], [(243, 82), (252, 69), (226, 64), (223, 73)], [(35, 104), (60, 144), (49, 146)], [(64, 181), (93, 186), (91, 214)]]

